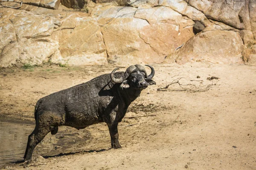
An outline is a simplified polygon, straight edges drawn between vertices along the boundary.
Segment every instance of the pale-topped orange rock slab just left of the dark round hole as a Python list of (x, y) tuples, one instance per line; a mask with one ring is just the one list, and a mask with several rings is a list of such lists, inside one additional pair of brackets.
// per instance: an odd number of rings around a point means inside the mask
[(193, 20), (166, 6), (138, 9), (134, 17), (147, 20), (150, 24), (142, 28), (139, 35), (160, 59), (194, 36)]

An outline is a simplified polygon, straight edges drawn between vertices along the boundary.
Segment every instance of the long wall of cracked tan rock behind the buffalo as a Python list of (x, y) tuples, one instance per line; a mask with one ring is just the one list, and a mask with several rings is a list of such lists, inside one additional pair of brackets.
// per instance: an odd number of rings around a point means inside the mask
[(0, 67), (256, 62), (255, 0), (23, 0), (0, 21)]

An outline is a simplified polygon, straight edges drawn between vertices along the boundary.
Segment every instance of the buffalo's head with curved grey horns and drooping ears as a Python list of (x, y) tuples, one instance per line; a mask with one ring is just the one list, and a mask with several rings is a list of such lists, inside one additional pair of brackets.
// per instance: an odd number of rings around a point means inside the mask
[(151, 74), (147, 75), (145, 68), (141, 65), (131, 65), (125, 71), (125, 73), (119, 77), (115, 78), (114, 73), (118, 68), (115, 68), (111, 72), (111, 81), (114, 83), (121, 83), (121, 88), (136, 88), (136, 89), (145, 89), (148, 85), (155, 85), (156, 82), (152, 80), (154, 77), (154, 68), (151, 65), (146, 65), (151, 68)]

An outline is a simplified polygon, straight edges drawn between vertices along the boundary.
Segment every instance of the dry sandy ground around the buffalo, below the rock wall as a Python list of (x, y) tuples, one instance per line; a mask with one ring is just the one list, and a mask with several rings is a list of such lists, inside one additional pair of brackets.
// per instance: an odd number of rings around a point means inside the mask
[[(6, 169), (255, 170), (256, 66), (198, 63), (153, 66), (157, 85), (143, 90), (119, 124), (121, 149), (110, 149), (108, 127), (104, 123), (84, 130), (63, 127), (71, 129), (80, 140), (58, 149), (38, 144), (33, 156), (47, 159), (28, 165), (10, 164)], [(0, 120), (34, 122), (38, 99), (110, 73), (113, 68), (113, 65), (83, 68), (46, 65), (28, 70), (1, 69)], [(207, 80), (212, 76), (220, 79)], [(175, 84), (168, 91), (157, 91), (181, 77), (181, 84), (194, 84), (200, 89), (211, 85), (210, 89), (195, 93), (177, 91), (181, 88)], [(55, 142), (51, 144), (56, 145)]]

